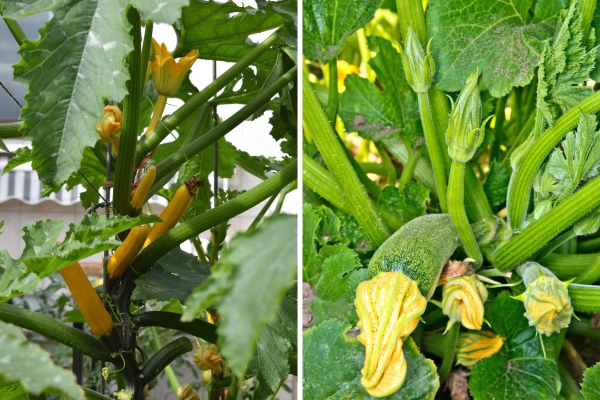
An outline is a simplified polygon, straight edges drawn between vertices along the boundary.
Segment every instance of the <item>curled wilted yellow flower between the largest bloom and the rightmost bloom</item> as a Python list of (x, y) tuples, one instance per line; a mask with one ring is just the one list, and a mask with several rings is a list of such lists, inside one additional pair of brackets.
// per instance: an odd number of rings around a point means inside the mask
[(487, 289), (473, 276), (450, 279), (442, 287), (442, 311), (450, 317), (448, 327), (460, 322), (467, 329), (481, 329)]

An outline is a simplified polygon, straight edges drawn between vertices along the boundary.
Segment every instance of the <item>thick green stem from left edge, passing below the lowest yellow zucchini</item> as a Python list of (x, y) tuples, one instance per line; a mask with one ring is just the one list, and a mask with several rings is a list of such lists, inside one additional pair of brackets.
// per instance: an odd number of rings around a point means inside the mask
[(46, 338), (79, 350), (94, 359), (113, 361), (110, 350), (94, 336), (46, 315), (10, 304), (2, 304), (0, 305), (0, 320), (40, 333)]

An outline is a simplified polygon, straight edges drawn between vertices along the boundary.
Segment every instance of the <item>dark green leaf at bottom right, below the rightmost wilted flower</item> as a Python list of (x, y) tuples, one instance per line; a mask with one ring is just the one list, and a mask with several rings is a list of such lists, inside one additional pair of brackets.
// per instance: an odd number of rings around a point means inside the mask
[[(557, 398), (560, 378), (556, 361), (544, 358), (535, 328), (529, 326), (523, 312), (523, 303), (511, 299), (506, 290), (492, 303), (490, 323), (504, 339), (504, 347), (473, 368), (469, 391), (475, 400)], [(551, 350), (546, 345), (548, 354)]]

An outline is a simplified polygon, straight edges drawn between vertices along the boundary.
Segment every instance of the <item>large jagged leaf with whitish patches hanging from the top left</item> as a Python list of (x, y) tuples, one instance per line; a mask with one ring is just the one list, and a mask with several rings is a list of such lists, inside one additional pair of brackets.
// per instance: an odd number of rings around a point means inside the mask
[[(3, 16), (19, 19), (41, 11), (53, 18), (40, 39), (20, 47), (14, 78), (29, 86), (25, 95), (23, 137), (33, 145), (32, 167), (44, 184), (58, 190), (76, 172), (83, 149), (98, 140), (96, 123), (103, 98), (121, 101), (129, 79), (125, 56), (133, 49), (125, 18), (127, 5), (143, 19), (172, 23), (188, 0), (4, 2)], [(48, 79), (52, 77), (52, 79)]]

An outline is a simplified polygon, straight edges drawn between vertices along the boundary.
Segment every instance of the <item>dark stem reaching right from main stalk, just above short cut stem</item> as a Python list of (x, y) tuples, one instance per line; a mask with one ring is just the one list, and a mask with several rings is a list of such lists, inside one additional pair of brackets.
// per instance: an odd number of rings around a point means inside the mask
[(146, 311), (134, 315), (136, 326), (158, 326), (167, 329), (181, 330), (207, 342), (217, 343), (217, 326), (203, 320), (195, 319), (182, 322), (181, 314), (168, 311)]

